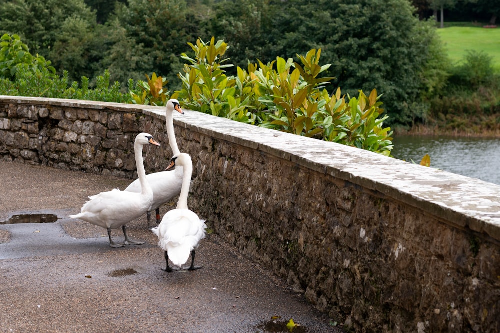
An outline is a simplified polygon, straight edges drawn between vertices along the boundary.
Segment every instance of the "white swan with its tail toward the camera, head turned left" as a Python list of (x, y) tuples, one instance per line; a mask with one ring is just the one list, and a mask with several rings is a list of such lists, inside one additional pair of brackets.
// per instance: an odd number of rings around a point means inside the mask
[(159, 226), (152, 232), (158, 236), (158, 245), (165, 250), (166, 268), (163, 271), (178, 270), (168, 265), (168, 258), (174, 265), (182, 265), (191, 254), (191, 265), (187, 270), (195, 270), (202, 266), (194, 266), (194, 256), (199, 241), (205, 237), (205, 220), (200, 220), (198, 215), (187, 208), (187, 195), (191, 184), (192, 162), (188, 154), (180, 153), (172, 157), (167, 170), (174, 165), (184, 167), (182, 189), (180, 191), (177, 208), (168, 211)]

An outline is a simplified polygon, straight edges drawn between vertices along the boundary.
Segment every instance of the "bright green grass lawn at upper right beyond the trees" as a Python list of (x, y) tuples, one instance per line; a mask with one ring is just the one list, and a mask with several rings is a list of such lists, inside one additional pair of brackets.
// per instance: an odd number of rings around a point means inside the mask
[(500, 70), (500, 27), (450, 26), (437, 29), (437, 33), (454, 63), (461, 61), (467, 50), (484, 51)]

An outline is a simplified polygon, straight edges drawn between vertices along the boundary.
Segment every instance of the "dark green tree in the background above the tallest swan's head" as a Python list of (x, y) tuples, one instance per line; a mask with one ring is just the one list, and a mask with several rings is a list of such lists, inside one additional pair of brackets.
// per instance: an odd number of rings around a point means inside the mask
[[(155, 72), (171, 83), (180, 84), (177, 78), (182, 68), (180, 54), (188, 48), (188, 41), (202, 35), (199, 16), (188, 10), (185, 0), (129, 0), (128, 5), (117, 5), (110, 20), (113, 20), (110, 33), (122, 34), (126, 44), (140, 45), (145, 55), (142, 63), (133, 60), (130, 54), (135, 72)], [(117, 56), (119, 51), (127, 52), (113, 46), (108, 56)], [(105, 62), (109, 63), (109, 58)], [(129, 65), (130, 62), (121, 63), (123, 68), (130, 68)]]

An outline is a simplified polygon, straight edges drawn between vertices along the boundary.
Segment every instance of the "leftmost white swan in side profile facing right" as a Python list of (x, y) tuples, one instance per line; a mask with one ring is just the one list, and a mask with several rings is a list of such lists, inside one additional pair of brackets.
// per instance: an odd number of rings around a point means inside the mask
[[(119, 189), (101, 192), (88, 197), (90, 200), (81, 207), (81, 213), (69, 216), (72, 219), (81, 219), (91, 224), (107, 228), (109, 246), (113, 248), (125, 246), (125, 244), (144, 243), (129, 240), (126, 234), (125, 224), (143, 215), (147, 209), (149, 209), (153, 201), (153, 192), (147, 182), (144, 161), (142, 159), (142, 147), (146, 144), (160, 145), (153, 139), (152, 135), (148, 133), (140, 133), (135, 138), (133, 147), (135, 151), (137, 174), (139, 175), (139, 181), (142, 187), (140, 193), (125, 192)], [(125, 235), (124, 243), (114, 243), (111, 239), (111, 229), (117, 229), (119, 227), (123, 228), (123, 234)]]

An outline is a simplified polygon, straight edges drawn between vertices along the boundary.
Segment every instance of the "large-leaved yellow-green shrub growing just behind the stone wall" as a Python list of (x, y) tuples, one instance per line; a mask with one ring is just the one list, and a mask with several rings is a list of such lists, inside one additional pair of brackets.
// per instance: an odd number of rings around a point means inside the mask
[(332, 77), (319, 77), (329, 65), (319, 65), (321, 49), (297, 55), (301, 64), (277, 57), (263, 64), (237, 67), (237, 76), (227, 76), (223, 64), (228, 45), (212, 37), (209, 44), (201, 39), (189, 43), (194, 57), (182, 54), (185, 64), (179, 74), (182, 88), (172, 97), (186, 108), (216, 116), (255, 124), (297, 135), (334, 141), (390, 155), (390, 127), (380, 96), (372, 90), (369, 96), (341, 96), (340, 88), (330, 96), (324, 88)]

